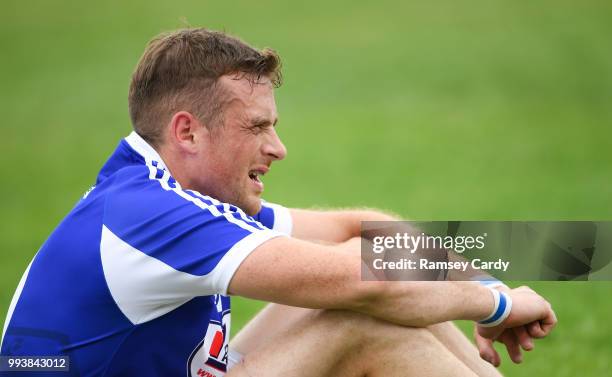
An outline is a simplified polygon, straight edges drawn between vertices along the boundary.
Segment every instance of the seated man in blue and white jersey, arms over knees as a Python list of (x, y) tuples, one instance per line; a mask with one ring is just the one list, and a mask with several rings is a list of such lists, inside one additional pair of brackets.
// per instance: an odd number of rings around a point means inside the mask
[[(389, 215), (262, 203), (287, 153), (279, 67), (204, 29), (150, 42), (134, 132), (28, 266), (2, 355), (67, 355), (80, 376), (498, 375), (448, 321), (492, 322), (477, 342), (493, 364), (492, 339), (519, 361), (550, 332), (528, 288), (362, 281), (360, 221)], [(231, 347), (227, 295), (276, 303)]]

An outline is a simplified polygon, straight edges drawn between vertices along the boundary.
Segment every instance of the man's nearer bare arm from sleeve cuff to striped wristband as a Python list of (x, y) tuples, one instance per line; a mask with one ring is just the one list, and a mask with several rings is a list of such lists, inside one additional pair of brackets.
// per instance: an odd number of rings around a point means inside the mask
[[(362, 281), (358, 255), (284, 237), (254, 250), (236, 271), (229, 292), (291, 306), (352, 310), (417, 327), (478, 320), (493, 309), (489, 290), (478, 284)], [(530, 322), (542, 315), (532, 310), (522, 316)]]

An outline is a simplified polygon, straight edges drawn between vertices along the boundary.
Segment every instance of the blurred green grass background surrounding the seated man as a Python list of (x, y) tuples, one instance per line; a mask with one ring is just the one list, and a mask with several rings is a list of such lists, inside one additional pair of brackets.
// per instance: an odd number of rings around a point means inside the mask
[[(612, 219), (612, 3), (31, 1), (0, 12), (0, 310), (130, 131), (145, 43), (186, 25), (283, 58), (266, 199), (420, 220)], [(87, 279), (87, 271), (83, 271)], [(533, 283), (559, 326), (509, 376), (602, 376), (610, 283)], [(237, 330), (261, 303), (238, 300)], [(44, 308), (41, 308), (44, 311)], [(466, 331), (469, 324), (462, 323)]]

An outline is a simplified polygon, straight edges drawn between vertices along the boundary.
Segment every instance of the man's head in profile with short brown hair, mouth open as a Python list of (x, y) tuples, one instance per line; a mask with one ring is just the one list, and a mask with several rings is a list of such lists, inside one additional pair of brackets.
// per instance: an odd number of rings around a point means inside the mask
[(183, 188), (255, 214), (259, 176), (286, 154), (274, 129), (280, 81), (272, 50), (205, 29), (165, 34), (132, 77), (132, 124)]

